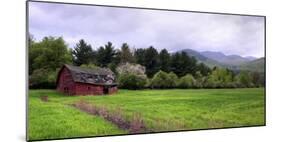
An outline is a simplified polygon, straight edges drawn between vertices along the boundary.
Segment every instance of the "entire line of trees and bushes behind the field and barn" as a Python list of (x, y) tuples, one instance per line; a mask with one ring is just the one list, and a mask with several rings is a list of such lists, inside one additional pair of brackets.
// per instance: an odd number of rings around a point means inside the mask
[(55, 88), (63, 64), (107, 67), (116, 73), (119, 87), (141, 88), (237, 88), (264, 85), (262, 74), (224, 68), (209, 68), (185, 52), (169, 53), (148, 48), (116, 48), (111, 42), (94, 50), (81, 39), (69, 48), (62, 37), (29, 37), (30, 88)]

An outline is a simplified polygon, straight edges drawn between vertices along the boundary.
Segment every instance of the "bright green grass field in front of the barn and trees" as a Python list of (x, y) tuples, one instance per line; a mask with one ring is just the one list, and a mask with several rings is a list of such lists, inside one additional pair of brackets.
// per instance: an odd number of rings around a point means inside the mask
[[(48, 96), (43, 102), (40, 96)], [(106, 96), (64, 96), (30, 90), (30, 140), (127, 134), (115, 124), (70, 106), (80, 100), (122, 110), (125, 119), (141, 115), (149, 132), (264, 125), (264, 89), (119, 90)]]

